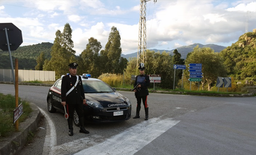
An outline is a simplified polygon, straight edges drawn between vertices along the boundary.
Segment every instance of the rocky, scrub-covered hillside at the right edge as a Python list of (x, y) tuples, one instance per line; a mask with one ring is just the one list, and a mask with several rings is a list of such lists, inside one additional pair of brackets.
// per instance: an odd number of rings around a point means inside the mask
[(256, 29), (241, 35), (238, 41), (221, 52), (228, 74), (235, 79), (256, 80)]

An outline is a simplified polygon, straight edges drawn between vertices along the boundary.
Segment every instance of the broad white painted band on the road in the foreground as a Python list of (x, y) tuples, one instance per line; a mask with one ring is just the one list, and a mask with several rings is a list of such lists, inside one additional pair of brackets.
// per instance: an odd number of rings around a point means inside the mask
[[(149, 119), (99, 144), (86, 148), (76, 153), (76, 155), (134, 154), (177, 123), (179, 123), (179, 121), (173, 121), (172, 119)], [(86, 142), (81, 141), (81, 143)]]

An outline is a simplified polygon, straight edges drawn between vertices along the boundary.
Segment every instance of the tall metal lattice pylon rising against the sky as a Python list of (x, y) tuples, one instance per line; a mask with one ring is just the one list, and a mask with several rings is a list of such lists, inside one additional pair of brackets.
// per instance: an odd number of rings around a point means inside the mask
[[(147, 60), (147, 30), (146, 30), (146, 6), (151, 0), (140, 0), (140, 17), (139, 17), (139, 41), (137, 52), (137, 66), (139, 63), (145, 63)], [(154, 0), (156, 3), (157, 0)]]

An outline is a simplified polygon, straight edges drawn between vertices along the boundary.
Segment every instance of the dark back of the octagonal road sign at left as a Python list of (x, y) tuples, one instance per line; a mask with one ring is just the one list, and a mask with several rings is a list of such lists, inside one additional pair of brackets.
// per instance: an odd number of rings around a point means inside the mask
[(23, 42), (21, 30), (13, 23), (0, 23), (0, 49), (3, 51), (8, 51), (5, 28), (7, 28), (10, 50), (15, 51)]

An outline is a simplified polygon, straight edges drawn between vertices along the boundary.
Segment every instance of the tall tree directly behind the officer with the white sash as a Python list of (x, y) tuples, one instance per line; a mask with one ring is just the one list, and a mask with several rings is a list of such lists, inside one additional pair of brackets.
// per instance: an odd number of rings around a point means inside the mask
[(60, 30), (56, 31), (56, 37), (54, 44), (51, 48), (51, 59), (45, 61), (43, 66), (44, 70), (55, 71), (56, 78), (60, 78), (61, 75), (66, 74), (68, 71), (68, 64), (70, 61), (74, 61), (74, 53), (72, 50), (74, 47), (71, 40), (72, 30), (70, 25), (67, 23), (64, 26), (63, 33)]

